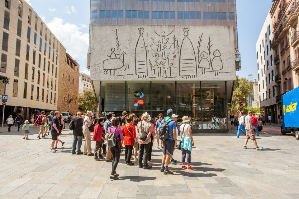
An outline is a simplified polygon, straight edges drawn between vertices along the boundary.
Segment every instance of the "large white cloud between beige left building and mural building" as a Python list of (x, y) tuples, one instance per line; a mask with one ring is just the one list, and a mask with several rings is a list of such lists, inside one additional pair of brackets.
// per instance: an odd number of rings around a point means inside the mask
[(83, 33), (77, 25), (64, 22), (63, 19), (57, 17), (47, 23), (47, 26), (74, 59), (86, 59), (88, 33)]

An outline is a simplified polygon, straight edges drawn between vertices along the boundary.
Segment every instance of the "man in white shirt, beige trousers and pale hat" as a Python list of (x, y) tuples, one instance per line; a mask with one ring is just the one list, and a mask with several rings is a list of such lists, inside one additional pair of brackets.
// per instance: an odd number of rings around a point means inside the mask
[(90, 137), (90, 131), (88, 127), (90, 127), (91, 123), (94, 122), (94, 118), (90, 120), (90, 116), (93, 113), (91, 111), (86, 112), (86, 117), (83, 120), (83, 135), (85, 137), (85, 144), (84, 144), (84, 151), (83, 155), (93, 156), (94, 153), (91, 152), (91, 137)]

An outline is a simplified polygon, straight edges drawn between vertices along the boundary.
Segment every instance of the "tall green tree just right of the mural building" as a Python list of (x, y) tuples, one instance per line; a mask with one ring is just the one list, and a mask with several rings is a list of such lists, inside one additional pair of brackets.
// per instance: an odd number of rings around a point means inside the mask
[(248, 81), (246, 78), (239, 78), (239, 76), (236, 76), (235, 89), (231, 103), (229, 104), (232, 113), (235, 113), (240, 109), (239, 102), (243, 102), (243, 106), (247, 107), (247, 97), (252, 89), (252, 82)]

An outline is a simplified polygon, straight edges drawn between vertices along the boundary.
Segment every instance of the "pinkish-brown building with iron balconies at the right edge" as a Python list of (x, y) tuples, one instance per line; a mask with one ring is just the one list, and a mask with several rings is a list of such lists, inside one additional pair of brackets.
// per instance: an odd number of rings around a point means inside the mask
[[(279, 0), (270, 9), (273, 24), (273, 49), (278, 115), (282, 113), (281, 95), (299, 85), (298, 65), (298, 0)], [(273, 117), (272, 117), (273, 118)]]

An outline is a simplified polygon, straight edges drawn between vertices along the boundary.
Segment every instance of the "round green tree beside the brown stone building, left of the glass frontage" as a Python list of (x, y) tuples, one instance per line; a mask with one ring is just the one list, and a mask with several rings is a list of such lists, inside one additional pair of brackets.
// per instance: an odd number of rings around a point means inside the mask
[(83, 94), (79, 94), (78, 105), (84, 112), (96, 110), (98, 104), (93, 90), (87, 89), (83, 91)]

